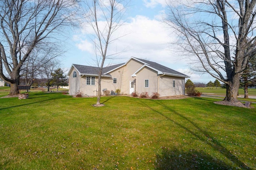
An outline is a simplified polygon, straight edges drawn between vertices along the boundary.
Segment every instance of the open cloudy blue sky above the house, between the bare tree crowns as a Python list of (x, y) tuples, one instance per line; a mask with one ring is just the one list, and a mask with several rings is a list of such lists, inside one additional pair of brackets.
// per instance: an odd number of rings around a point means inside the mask
[[(125, 24), (116, 34), (123, 34), (108, 48), (108, 54), (124, 51), (106, 64), (124, 63), (130, 57), (148, 59), (162, 64), (188, 76), (193, 82), (209, 82), (215, 79), (208, 74), (194, 74), (189, 70), (188, 59), (174, 53), (170, 42), (175, 41), (175, 34), (161, 21), (166, 11), (165, 0), (131, 0), (125, 15)], [(88, 27), (71, 33), (67, 42), (67, 53), (62, 61), (66, 70), (72, 64), (95, 66), (93, 43)]]

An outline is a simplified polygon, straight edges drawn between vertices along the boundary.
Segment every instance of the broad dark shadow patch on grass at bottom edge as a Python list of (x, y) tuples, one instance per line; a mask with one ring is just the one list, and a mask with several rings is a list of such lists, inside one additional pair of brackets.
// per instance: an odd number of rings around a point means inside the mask
[(158, 164), (157, 170), (203, 170), (203, 169), (233, 169), (221, 160), (213, 158), (204, 152), (190, 150), (171, 150), (170, 148), (161, 147), (162, 154), (156, 155)]

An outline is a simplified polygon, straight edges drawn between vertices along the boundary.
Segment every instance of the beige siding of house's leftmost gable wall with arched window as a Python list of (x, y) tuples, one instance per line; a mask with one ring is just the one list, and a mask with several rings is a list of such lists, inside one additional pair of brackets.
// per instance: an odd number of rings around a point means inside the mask
[[(76, 71), (76, 77), (73, 77), (74, 71)], [(78, 71), (75, 68), (73, 68), (68, 80), (70, 95), (75, 95), (76, 93), (80, 92), (80, 80), (81, 78), (78, 74)]]

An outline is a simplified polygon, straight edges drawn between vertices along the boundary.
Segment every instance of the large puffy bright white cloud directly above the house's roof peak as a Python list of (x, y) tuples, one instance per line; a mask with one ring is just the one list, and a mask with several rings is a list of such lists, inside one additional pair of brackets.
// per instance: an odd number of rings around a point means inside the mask
[[(128, 34), (113, 44), (110, 51), (126, 49), (123, 57), (147, 58), (155, 62), (173, 63), (170, 59), (168, 42), (173, 40), (172, 31), (166, 29), (164, 24), (158, 20), (150, 20), (144, 16), (132, 18), (130, 23), (121, 27), (124, 34)], [(172, 36), (170, 36), (172, 35)]]

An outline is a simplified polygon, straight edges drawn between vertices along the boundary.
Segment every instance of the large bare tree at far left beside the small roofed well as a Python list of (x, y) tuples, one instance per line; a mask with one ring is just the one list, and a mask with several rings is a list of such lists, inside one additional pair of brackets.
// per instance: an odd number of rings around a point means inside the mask
[[(35, 48), (60, 42), (57, 37), (77, 25), (78, 0), (0, 1), (0, 78), (18, 94), (20, 70)], [(4, 74), (6, 72), (7, 75)]]

